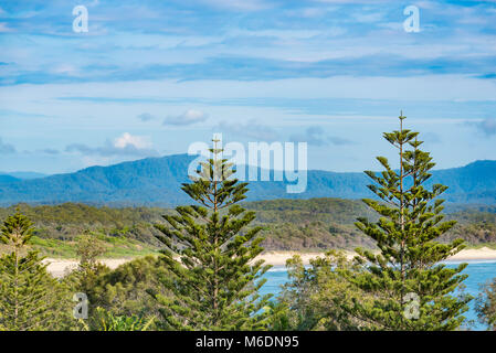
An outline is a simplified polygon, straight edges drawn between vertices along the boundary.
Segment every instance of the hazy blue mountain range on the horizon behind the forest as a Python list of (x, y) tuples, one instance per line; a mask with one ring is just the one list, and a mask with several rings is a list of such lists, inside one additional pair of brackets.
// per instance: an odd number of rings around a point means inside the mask
[[(57, 204), (83, 202), (106, 205), (175, 206), (190, 203), (180, 190), (193, 156), (175, 154), (148, 158), (109, 167), (92, 167), (75, 173), (34, 180), (0, 183), (0, 205), (19, 202)], [(249, 201), (274, 199), (371, 197), (370, 183), (363, 173), (308, 171), (304, 193), (286, 193), (286, 182), (250, 182)], [(452, 203), (496, 204), (496, 161), (476, 161), (468, 165), (433, 172), (431, 183), (450, 189), (445, 199)]]

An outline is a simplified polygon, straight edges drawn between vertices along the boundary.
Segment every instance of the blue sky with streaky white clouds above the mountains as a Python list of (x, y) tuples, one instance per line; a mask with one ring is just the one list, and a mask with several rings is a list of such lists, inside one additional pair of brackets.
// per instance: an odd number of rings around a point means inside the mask
[[(73, 14), (87, 9), (87, 32)], [(405, 31), (405, 8), (419, 31)], [(1, 0), (0, 171), (73, 172), (224, 142), (379, 169), (496, 160), (496, 0)]]

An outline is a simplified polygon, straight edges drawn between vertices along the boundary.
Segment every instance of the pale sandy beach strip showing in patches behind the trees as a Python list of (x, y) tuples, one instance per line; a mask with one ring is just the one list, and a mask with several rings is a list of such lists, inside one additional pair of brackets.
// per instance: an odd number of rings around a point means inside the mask
[[(286, 260), (294, 255), (299, 255), (304, 264), (308, 264), (310, 259), (318, 256), (323, 256), (324, 253), (298, 253), (298, 252), (270, 252), (258, 256), (260, 259), (264, 259), (266, 264), (274, 266), (284, 266)], [(352, 258), (355, 254), (352, 252), (346, 253), (348, 258)], [(102, 263), (114, 269), (122, 264), (131, 260), (130, 258), (107, 258)], [(496, 250), (488, 247), (479, 249), (465, 249), (448, 258), (448, 260), (496, 260)], [(75, 259), (44, 259), (45, 264), (49, 264), (48, 270), (55, 277), (62, 277), (64, 274), (70, 272), (77, 266)]]

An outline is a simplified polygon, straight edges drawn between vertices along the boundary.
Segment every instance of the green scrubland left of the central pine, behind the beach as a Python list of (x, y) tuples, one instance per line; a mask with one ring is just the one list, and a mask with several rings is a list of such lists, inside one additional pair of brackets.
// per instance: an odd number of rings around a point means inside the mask
[[(30, 242), (32, 249), (54, 258), (77, 258), (76, 244), (82, 236), (102, 240), (105, 256), (110, 258), (136, 257), (157, 253), (158, 232), (150, 223), (160, 218), (159, 208), (109, 208), (84, 204), (55, 206), (18, 205), (18, 208), (36, 226)], [(0, 208), (7, 217), (13, 207)], [(0, 246), (0, 254), (6, 250)]]

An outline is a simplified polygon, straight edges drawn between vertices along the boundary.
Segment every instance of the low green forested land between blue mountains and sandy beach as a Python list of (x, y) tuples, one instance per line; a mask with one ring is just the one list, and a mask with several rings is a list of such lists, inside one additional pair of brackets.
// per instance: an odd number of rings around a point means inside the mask
[[(35, 245), (46, 255), (70, 257), (72, 245), (82, 234), (93, 234), (114, 248), (114, 256), (152, 253), (158, 247), (155, 223), (172, 210), (158, 207), (96, 207), (65, 203), (54, 206), (18, 205), (36, 226)], [(263, 226), (266, 250), (352, 249), (372, 244), (353, 225), (358, 216), (377, 216), (361, 201), (342, 199), (272, 200), (247, 202), (256, 212), (256, 225)], [(12, 214), (15, 206), (0, 208), (0, 218)], [(457, 208), (447, 218), (458, 224), (444, 240), (463, 237), (473, 246), (496, 244), (496, 213)], [(493, 212), (487, 212), (493, 211)], [(119, 248), (117, 252), (115, 247)]]

